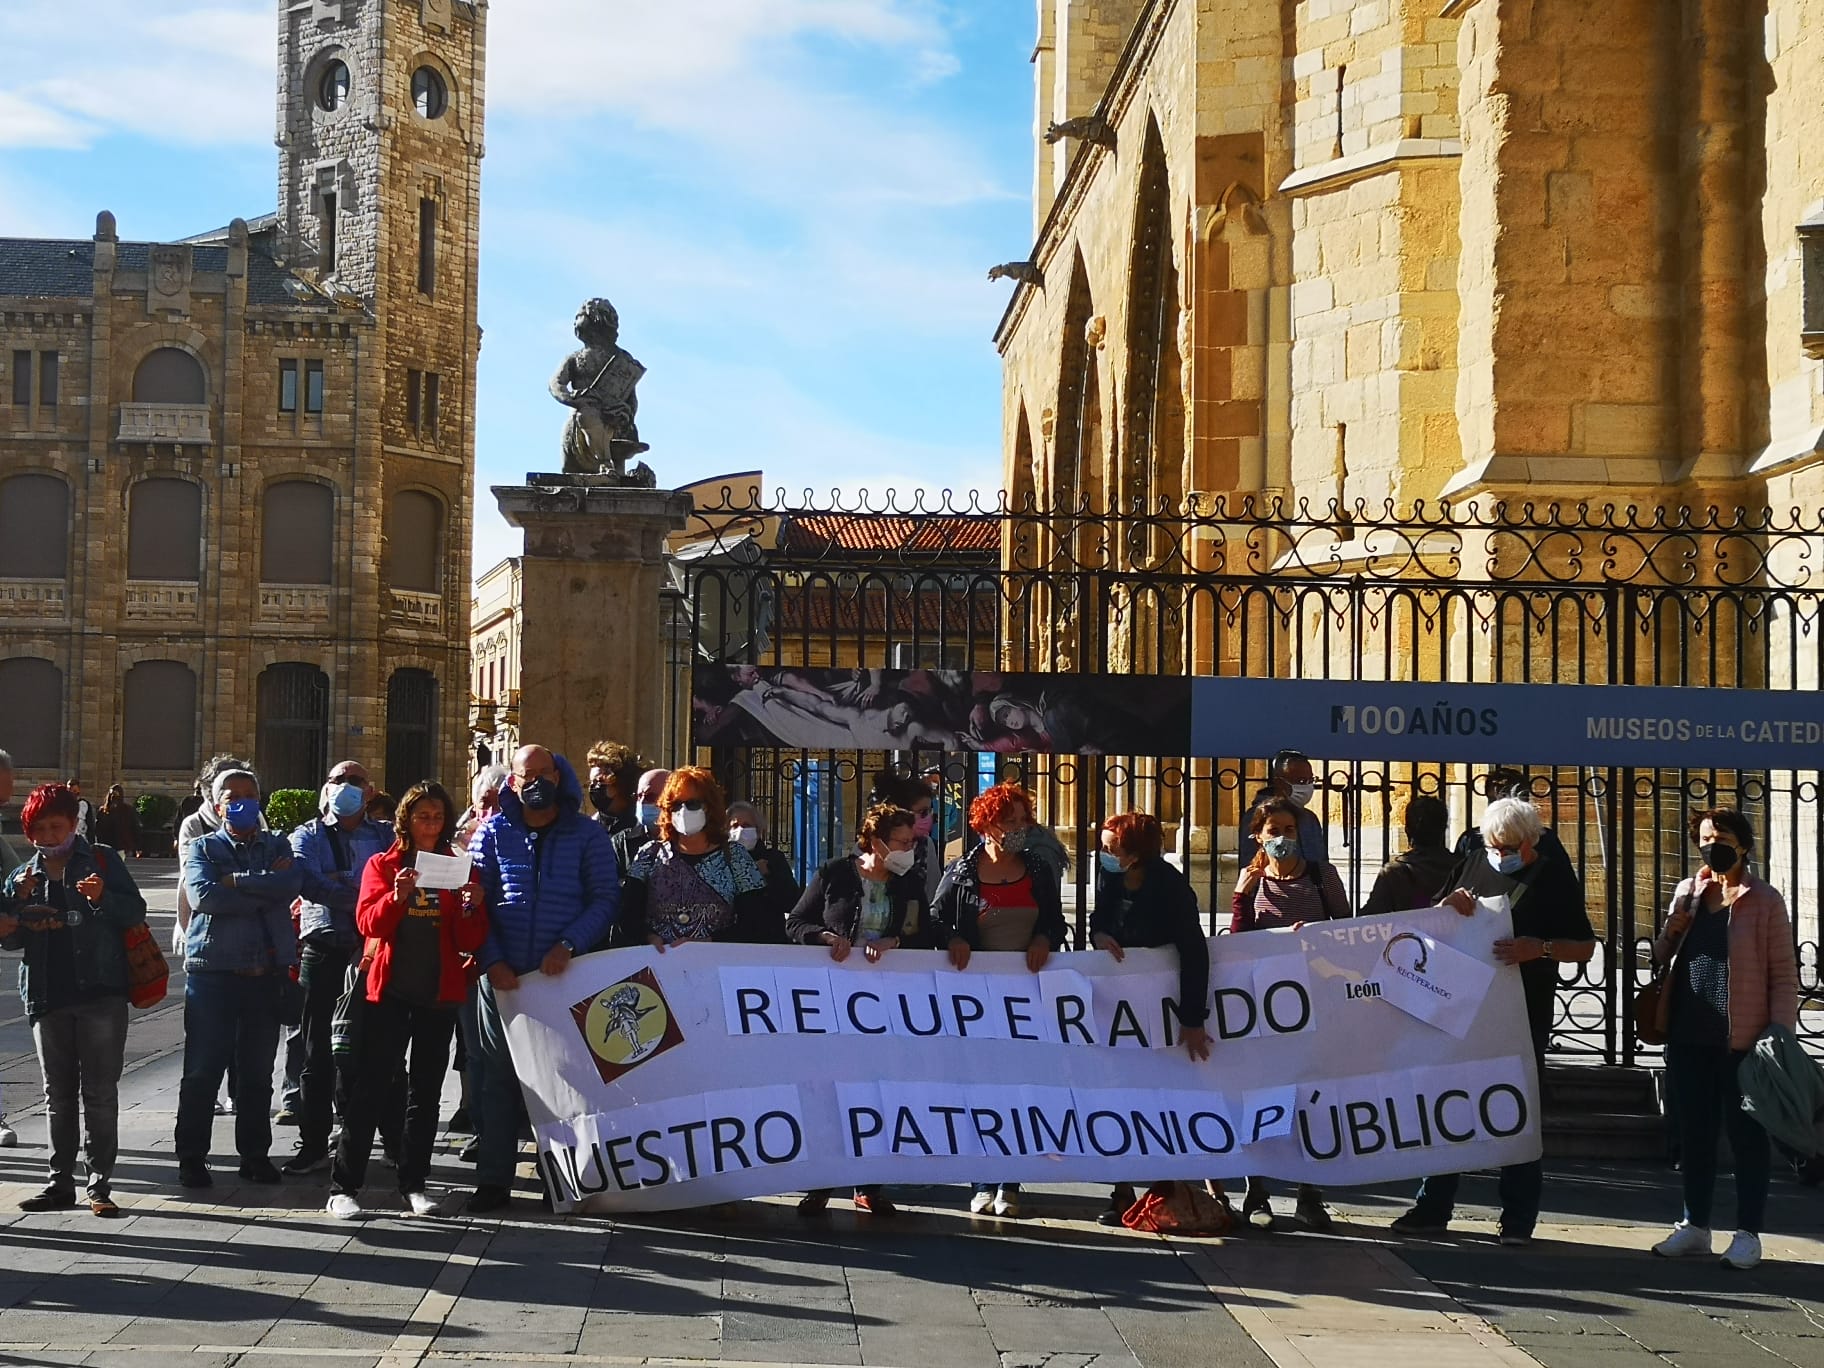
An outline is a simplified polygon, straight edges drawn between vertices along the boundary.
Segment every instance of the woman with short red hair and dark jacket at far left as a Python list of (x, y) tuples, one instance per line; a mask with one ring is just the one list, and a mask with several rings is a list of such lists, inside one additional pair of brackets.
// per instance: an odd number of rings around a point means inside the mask
[(20, 1207), (77, 1206), (82, 1140), (89, 1211), (117, 1217), (111, 1187), (128, 992), (122, 934), (144, 925), (146, 899), (120, 852), (91, 846), (77, 834), (78, 821), (75, 790), (40, 784), (31, 792), (20, 826), (33, 855), (7, 876), (0, 901), (0, 948), (24, 950), (18, 996), (38, 1047), (51, 1133), (51, 1182)]

